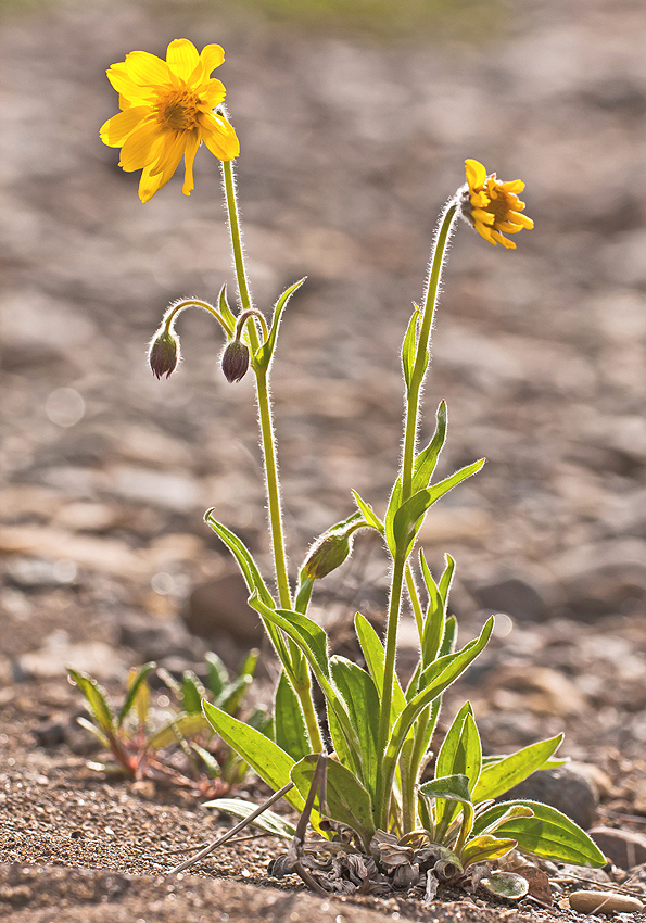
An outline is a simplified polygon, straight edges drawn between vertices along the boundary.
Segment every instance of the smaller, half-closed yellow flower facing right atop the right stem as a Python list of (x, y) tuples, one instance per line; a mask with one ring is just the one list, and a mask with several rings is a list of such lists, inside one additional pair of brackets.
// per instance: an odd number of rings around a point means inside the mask
[(478, 161), (465, 161), (465, 166), (468, 188), (465, 187), (463, 214), (494, 246), (502, 243), (507, 250), (516, 250), (514, 241), (507, 240), (502, 231), (518, 233), (523, 228), (531, 230), (534, 227), (532, 219), (522, 214), (524, 202), (518, 198), (524, 182), (521, 179), (501, 182), (495, 173), (487, 176)]

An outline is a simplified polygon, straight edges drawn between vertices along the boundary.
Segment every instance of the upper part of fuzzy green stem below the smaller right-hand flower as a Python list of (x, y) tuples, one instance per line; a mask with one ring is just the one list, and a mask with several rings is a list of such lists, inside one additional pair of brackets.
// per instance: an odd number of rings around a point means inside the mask
[(402, 503), (405, 503), (411, 493), (415, 445), (417, 442), (417, 429), (419, 425), (419, 395), (428, 365), (429, 339), (433, 327), (435, 305), (438, 303), (438, 292), (440, 289), (440, 279), (442, 277), (442, 267), (444, 265), (444, 254), (446, 252), (446, 245), (451, 239), (451, 233), (456, 220), (456, 214), (457, 202), (452, 199), (447, 203), (440, 218), (440, 229), (438, 230), (435, 240), (433, 241), (431, 268), (423, 300), (421, 327), (417, 339), (415, 365), (413, 367), (410, 388), (408, 390), (406, 401), (404, 454), (402, 458)]

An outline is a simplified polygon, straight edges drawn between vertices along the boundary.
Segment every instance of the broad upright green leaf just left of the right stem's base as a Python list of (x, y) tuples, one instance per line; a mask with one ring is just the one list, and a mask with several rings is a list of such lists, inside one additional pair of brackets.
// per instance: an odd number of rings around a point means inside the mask
[(377, 793), (379, 754), (379, 693), (372, 678), (345, 657), (331, 657), (330, 669), (337, 690), (345, 703), (352, 726), (359, 739), (360, 780), (371, 794)]

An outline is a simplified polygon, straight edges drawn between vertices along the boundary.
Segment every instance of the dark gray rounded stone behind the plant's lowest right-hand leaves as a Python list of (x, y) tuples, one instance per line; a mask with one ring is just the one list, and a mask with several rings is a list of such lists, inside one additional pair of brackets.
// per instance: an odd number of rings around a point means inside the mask
[(596, 820), (598, 796), (592, 783), (570, 769), (544, 769), (534, 772), (524, 782), (515, 785), (504, 795), (504, 800), (527, 798), (543, 801), (588, 830)]

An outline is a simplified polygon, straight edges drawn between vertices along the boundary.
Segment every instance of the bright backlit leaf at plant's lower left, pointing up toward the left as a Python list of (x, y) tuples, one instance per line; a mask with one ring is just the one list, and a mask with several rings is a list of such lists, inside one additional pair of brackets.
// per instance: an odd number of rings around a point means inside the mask
[[(203, 708), (204, 715), (214, 731), (232, 750), (240, 754), (242, 759), (257, 772), (261, 779), (264, 779), (267, 785), (275, 792), (287, 785), (290, 781), (291, 769), (294, 766), (294, 760), (289, 754), (286, 754), (274, 741), (265, 737), (255, 728), (250, 728), (249, 724), (227, 715), (226, 711), (221, 711), (215, 705), (205, 701)], [(305, 807), (305, 801), (293, 788), (287, 793), (284, 798), (296, 811), (302, 811)]]

